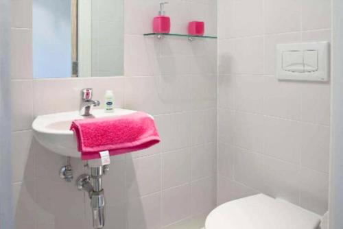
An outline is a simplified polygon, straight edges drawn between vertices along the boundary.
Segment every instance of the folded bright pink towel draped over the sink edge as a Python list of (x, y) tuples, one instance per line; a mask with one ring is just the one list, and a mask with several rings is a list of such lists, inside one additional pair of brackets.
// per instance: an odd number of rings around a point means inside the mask
[(144, 112), (119, 117), (80, 119), (71, 123), (82, 160), (100, 158), (108, 150), (110, 156), (146, 149), (160, 142), (154, 119)]

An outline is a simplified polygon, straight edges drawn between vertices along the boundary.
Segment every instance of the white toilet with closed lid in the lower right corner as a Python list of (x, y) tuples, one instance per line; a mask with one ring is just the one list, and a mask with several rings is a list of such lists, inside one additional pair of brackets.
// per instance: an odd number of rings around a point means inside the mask
[[(324, 221), (326, 220), (323, 219)], [(327, 229), (322, 224), (320, 215), (263, 194), (222, 204), (212, 210), (205, 222), (205, 229), (290, 228)]]

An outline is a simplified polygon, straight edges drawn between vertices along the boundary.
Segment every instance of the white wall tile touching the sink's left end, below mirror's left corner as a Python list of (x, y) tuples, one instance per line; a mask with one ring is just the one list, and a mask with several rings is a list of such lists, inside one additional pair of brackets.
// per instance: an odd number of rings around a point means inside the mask
[(29, 130), (33, 121), (32, 81), (15, 80), (11, 87), (12, 130)]

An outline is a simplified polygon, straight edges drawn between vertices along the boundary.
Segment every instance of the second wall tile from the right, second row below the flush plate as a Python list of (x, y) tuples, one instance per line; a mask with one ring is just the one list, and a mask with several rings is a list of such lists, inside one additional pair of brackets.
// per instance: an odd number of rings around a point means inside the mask
[(297, 121), (265, 118), (263, 154), (299, 165), (302, 144), (299, 124)]

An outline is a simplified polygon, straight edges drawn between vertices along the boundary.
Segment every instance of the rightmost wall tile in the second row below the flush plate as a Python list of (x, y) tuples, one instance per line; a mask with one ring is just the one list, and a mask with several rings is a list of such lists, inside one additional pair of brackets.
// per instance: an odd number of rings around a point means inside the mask
[(301, 165), (329, 173), (329, 127), (303, 123), (302, 135)]

